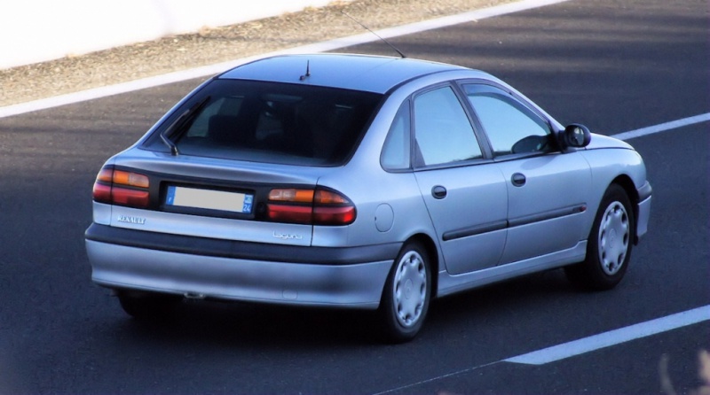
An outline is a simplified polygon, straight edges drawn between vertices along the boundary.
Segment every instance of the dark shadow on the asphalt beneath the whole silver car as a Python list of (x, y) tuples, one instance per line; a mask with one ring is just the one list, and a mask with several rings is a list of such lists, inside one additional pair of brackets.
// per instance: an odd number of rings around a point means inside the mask
[[(413, 343), (439, 337), (439, 331), (453, 333), (461, 327), (519, 319), (520, 314), (534, 311), (536, 304), (549, 305), (575, 292), (563, 271), (553, 270), (435, 299)], [(123, 315), (116, 330), (139, 342), (153, 338), (176, 345), (291, 350), (386, 345), (377, 318), (375, 311), (186, 299), (162, 319), (145, 321)]]

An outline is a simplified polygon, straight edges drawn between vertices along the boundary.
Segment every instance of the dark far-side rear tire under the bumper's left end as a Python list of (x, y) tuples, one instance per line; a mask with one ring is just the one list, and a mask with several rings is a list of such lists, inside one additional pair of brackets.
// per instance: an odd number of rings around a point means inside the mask
[(162, 320), (170, 317), (182, 297), (142, 291), (118, 291), (118, 300), (126, 314), (138, 320)]

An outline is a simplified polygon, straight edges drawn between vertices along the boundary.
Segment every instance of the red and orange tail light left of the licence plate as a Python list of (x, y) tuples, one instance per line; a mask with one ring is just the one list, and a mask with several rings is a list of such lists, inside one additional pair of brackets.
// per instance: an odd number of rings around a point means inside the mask
[(93, 198), (99, 203), (145, 208), (150, 203), (149, 186), (147, 175), (104, 167), (96, 176)]

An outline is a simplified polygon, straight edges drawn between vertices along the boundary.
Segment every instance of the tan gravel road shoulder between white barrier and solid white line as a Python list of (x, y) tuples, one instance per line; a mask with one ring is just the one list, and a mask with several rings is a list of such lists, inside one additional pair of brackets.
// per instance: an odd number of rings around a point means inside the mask
[[(82, 56), (0, 70), (0, 106), (135, 81), (373, 30), (469, 12), (510, 0), (353, 0), (227, 27), (204, 27)], [(394, 54), (393, 54), (394, 55)]]

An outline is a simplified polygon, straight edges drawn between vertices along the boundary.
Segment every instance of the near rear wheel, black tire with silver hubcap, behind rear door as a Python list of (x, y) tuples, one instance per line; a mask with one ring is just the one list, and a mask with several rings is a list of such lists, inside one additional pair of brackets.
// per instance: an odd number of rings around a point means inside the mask
[(422, 329), (431, 298), (430, 267), (429, 254), (421, 244), (407, 243), (402, 247), (380, 301), (385, 341), (404, 343)]

